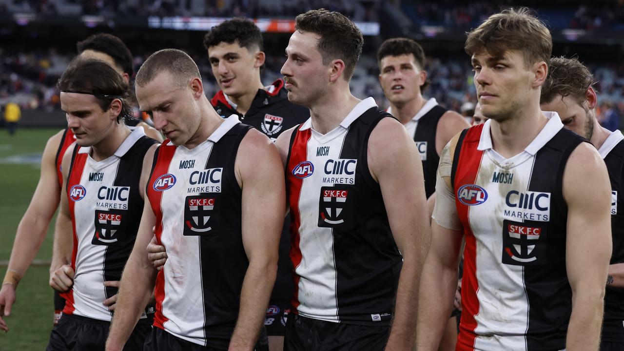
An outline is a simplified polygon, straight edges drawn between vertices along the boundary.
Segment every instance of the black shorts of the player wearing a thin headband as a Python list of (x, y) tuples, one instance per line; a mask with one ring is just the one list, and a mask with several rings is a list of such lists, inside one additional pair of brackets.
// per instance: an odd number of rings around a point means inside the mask
[[(50, 333), (46, 351), (104, 350), (109, 336), (110, 322), (79, 315), (64, 314)], [(142, 351), (151, 325), (137, 325), (125, 343), (124, 351)]]

